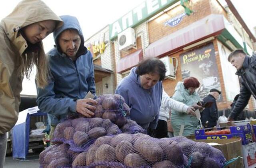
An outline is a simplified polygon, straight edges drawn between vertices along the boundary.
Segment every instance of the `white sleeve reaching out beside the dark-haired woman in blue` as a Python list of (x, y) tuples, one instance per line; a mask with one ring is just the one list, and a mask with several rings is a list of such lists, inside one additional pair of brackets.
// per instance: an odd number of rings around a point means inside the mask
[(168, 94), (164, 91), (164, 89), (163, 89), (163, 96), (162, 96), (162, 105), (169, 109), (174, 109), (175, 111), (181, 111), (184, 113), (186, 113), (188, 109), (187, 105), (170, 98), (170, 96), (168, 96)]

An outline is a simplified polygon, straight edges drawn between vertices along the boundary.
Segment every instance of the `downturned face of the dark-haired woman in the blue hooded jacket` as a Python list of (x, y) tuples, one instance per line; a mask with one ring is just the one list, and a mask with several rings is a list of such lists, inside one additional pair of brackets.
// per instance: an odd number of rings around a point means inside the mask
[(143, 89), (150, 89), (152, 88), (160, 79), (159, 74), (156, 73), (150, 73), (150, 74), (144, 74), (140, 76), (140, 85)]

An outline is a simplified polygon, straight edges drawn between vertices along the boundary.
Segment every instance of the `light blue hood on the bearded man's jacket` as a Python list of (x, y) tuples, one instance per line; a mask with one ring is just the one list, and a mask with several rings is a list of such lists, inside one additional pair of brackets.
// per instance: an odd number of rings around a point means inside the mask
[(79, 24), (79, 21), (77, 20), (77, 18), (74, 16), (68, 16), (68, 15), (60, 16), (60, 18), (63, 20), (64, 23), (61, 27), (59, 27), (58, 29), (56, 29), (56, 31), (53, 32), (53, 37), (54, 37), (54, 41), (56, 44), (56, 48), (57, 48), (58, 52), (60, 53), (60, 55), (64, 56), (64, 54), (62, 53), (62, 51), (60, 49), (58, 37), (66, 29), (75, 29), (78, 31), (78, 34), (80, 35), (81, 44), (78, 49), (77, 56), (79, 57), (80, 55), (86, 54), (87, 49), (84, 46), (84, 36), (83, 36), (82, 29), (80, 27), (80, 24)]

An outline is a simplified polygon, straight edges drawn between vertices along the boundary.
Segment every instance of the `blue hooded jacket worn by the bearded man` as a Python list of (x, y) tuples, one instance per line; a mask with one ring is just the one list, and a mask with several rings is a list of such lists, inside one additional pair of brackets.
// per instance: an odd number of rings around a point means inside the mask
[[(83, 99), (88, 91), (95, 95), (94, 64), (92, 54), (84, 47), (84, 37), (78, 20), (73, 16), (60, 16), (62, 27), (54, 31), (56, 46), (49, 51), (51, 78), (44, 89), (37, 88), (36, 102), (41, 111), (48, 113), (51, 125), (57, 125), (76, 113), (74, 99)], [(66, 29), (76, 29), (81, 38), (78, 58), (72, 61), (58, 45), (58, 36)]]

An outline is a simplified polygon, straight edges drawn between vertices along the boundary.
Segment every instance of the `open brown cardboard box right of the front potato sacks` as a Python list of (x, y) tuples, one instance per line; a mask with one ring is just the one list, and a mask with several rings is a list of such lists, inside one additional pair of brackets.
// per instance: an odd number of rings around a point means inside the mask
[[(211, 139), (211, 140), (193, 140), (193, 141), (220, 144), (220, 145), (214, 145), (212, 147), (221, 150), (227, 161), (232, 158), (236, 158), (238, 156), (243, 157), (241, 139)], [(226, 168), (243, 168), (243, 167), (244, 167), (244, 160), (241, 158), (239, 158), (238, 160), (226, 166)]]

